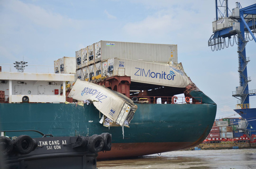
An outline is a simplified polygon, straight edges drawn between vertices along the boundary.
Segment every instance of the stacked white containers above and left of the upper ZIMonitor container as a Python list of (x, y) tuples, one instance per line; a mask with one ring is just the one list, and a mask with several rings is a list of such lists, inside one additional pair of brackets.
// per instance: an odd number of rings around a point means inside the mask
[[(114, 58), (160, 64), (178, 62), (176, 44), (100, 41), (76, 51), (75, 55), (76, 77), (86, 81), (113, 75)], [(119, 68), (122, 67), (121, 62)], [(124, 74), (124, 70), (119, 69), (119, 73)]]

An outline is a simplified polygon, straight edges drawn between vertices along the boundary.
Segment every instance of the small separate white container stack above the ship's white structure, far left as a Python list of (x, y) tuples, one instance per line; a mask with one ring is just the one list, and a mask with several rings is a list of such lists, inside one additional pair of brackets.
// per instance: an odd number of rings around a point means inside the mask
[(54, 61), (54, 72), (75, 74), (75, 58), (63, 57)]

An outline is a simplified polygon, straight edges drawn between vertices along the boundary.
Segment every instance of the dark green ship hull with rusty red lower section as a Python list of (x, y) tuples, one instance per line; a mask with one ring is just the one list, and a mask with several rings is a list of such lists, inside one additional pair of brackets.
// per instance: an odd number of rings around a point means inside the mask
[[(54, 136), (112, 134), (112, 150), (98, 159), (142, 156), (190, 148), (210, 133), (217, 105), (202, 92), (192, 91), (203, 104), (137, 104), (128, 127), (104, 127), (92, 104), (0, 103), (0, 130), (38, 130)], [(6, 132), (7, 136), (33, 132)]]

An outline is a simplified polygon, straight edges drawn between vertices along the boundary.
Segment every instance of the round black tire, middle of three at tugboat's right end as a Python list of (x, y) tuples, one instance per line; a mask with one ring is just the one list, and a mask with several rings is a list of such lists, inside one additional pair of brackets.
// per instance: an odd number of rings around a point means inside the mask
[(88, 150), (93, 153), (100, 152), (104, 146), (104, 139), (101, 135), (92, 135), (87, 143)]

